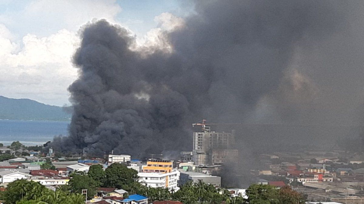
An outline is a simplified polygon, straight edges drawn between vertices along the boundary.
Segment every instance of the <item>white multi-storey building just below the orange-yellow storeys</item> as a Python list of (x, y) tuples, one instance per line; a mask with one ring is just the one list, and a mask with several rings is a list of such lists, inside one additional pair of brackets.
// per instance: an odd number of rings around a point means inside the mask
[(165, 187), (168, 188), (170, 191), (172, 189), (174, 191), (178, 191), (179, 187), (177, 187), (178, 180), (179, 180), (179, 171), (173, 170), (169, 173), (145, 173), (139, 172), (139, 183), (142, 183), (146, 186), (150, 186), (153, 188), (157, 187)]

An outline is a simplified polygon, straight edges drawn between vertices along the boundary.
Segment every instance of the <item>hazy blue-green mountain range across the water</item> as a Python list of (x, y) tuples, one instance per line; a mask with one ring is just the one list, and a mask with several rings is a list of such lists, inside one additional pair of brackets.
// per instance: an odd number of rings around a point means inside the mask
[(0, 119), (68, 121), (70, 118), (71, 114), (63, 107), (0, 96)]

